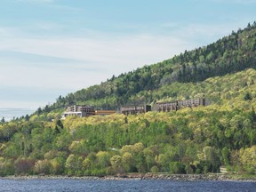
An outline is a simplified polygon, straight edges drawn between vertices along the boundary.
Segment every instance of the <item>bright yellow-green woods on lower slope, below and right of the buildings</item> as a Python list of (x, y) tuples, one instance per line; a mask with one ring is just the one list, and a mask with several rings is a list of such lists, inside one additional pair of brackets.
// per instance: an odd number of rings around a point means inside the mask
[[(0, 125), (0, 174), (255, 173), (256, 70), (174, 83), (152, 97), (206, 94), (212, 105), (170, 113), (31, 116)], [(47, 121), (49, 119), (49, 121)], [(254, 154), (254, 155), (253, 155)]]

